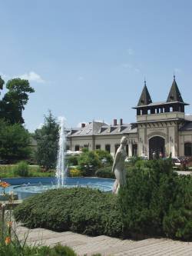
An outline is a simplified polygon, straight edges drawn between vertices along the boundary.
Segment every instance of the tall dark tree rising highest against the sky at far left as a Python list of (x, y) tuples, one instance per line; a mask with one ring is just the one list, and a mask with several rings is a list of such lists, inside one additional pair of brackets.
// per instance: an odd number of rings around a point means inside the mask
[[(0, 79), (0, 88), (4, 81)], [(2, 101), (0, 101), (0, 118), (5, 118), (11, 124), (24, 123), (22, 111), (28, 103), (28, 94), (34, 92), (28, 80), (14, 78), (6, 84), (8, 92), (5, 93)]]

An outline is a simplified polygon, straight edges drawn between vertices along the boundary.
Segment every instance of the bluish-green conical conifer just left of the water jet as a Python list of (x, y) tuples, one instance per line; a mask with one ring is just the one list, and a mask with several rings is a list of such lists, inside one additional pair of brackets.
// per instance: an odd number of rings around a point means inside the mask
[(44, 125), (35, 131), (35, 139), (38, 141), (36, 159), (38, 164), (46, 171), (55, 168), (58, 151), (58, 123), (56, 118), (49, 111), (45, 116)]

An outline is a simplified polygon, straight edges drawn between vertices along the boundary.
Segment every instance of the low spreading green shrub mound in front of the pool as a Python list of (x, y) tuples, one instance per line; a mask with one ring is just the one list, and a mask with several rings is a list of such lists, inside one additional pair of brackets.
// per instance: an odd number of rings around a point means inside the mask
[(55, 189), (23, 201), (15, 219), (30, 228), (121, 237), (117, 197), (90, 188)]

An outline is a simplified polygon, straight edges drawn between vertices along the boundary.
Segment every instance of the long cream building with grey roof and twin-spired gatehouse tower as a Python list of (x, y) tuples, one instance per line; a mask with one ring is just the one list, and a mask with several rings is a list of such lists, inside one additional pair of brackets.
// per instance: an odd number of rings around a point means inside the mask
[(185, 106), (177, 82), (171, 85), (166, 101), (152, 102), (146, 81), (138, 104), (137, 121), (124, 124), (114, 119), (113, 125), (92, 121), (68, 131), (68, 149), (98, 148), (114, 155), (122, 136), (127, 137), (127, 155), (147, 156), (153, 153), (167, 157), (192, 155), (192, 115), (185, 115)]

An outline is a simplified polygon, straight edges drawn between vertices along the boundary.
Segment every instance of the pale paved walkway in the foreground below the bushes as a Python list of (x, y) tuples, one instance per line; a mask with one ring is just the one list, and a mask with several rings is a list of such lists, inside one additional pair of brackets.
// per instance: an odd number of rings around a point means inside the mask
[(17, 234), (20, 239), (27, 236), (28, 244), (68, 245), (78, 255), (101, 253), (115, 256), (192, 256), (192, 242), (172, 241), (170, 239), (150, 238), (141, 241), (121, 240), (105, 235), (88, 237), (72, 232), (55, 232), (43, 228), (28, 230), (18, 226)]

